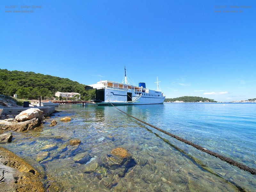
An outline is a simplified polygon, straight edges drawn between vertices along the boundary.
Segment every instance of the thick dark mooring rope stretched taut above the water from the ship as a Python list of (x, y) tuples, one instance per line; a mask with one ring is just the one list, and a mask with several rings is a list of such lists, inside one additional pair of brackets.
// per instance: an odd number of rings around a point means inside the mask
[[(110, 103), (110, 102), (109, 102), (109, 103)], [(144, 124), (146, 124), (146, 125), (148, 125), (148, 126), (154, 128), (154, 129), (156, 129), (156, 130), (158, 130), (158, 131), (160, 131), (160, 132), (163, 132), (163, 133), (165, 133), (166, 135), (169, 135), (169, 136), (171, 136), (171, 137), (173, 137), (173, 138), (175, 138), (175, 139), (177, 139), (177, 140), (179, 140), (179, 141), (182, 141), (183, 143), (186, 143), (186, 144), (188, 144), (188, 145), (190, 145), (190, 146), (192, 146), (192, 147), (194, 147), (194, 148), (196, 148), (196, 149), (198, 149), (198, 150), (200, 150), (200, 151), (203, 151), (203, 152), (205, 152), (205, 153), (208, 153), (209, 155), (215, 156), (215, 157), (219, 158), (220, 160), (227, 162), (228, 164), (234, 165), (234, 166), (238, 167), (239, 169), (242, 169), (242, 170), (244, 170), (244, 171), (247, 171), (247, 172), (251, 173), (252, 175), (255, 175), (255, 174), (256, 174), (256, 169), (253, 169), (253, 168), (251, 168), (251, 167), (248, 167), (247, 165), (242, 164), (242, 163), (239, 163), (239, 162), (237, 162), (237, 161), (235, 161), (235, 160), (233, 160), (233, 159), (231, 159), (231, 158), (229, 158), (229, 157), (222, 156), (222, 155), (220, 155), (220, 154), (218, 154), (218, 153), (215, 153), (215, 152), (213, 152), (213, 151), (211, 151), (211, 150), (209, 150), (209, 149), (203, 148), (203, 147), (201, 147), (200, 145), (197, 145), (197, 144), (192, 143), (192, 142), (190, 142), (190, 141), (188, 141), (188, 140), (185, 140), (185, 139), (183, 139), (183, 138), (181, 138), (181, 137), (179, 137), (179, 136), (176, 136), (176, 135), (174, 135), (174, 134), (172, 134), (172, 133), (169, 133), (169, 132), (167, 132), (167, 131), (164, 131), (163, 129), (160, 129), (160, 128), (158, 128), (158, 127), (156, 127), (156, 126), (154, 126), (154, 125), (151, 125), (151, 124), (149, 124), (149, 123), (147, 123), (147, 122), (145, 122), (145, 121), (142, 121), (142, 120), (140, 120), (140, 119), (138, 119), (138, 118), (136, 118), (136, 117), (134, 117), (134, 116), (131, 116), (131, 115), (129, 115), (128, 113), (125, 113), (125, 112), (122, 111), (121, 109), (119, 109), (119, 108), (117, 108), (116, 106), (114, 106), (112, 103), (110, 103), (110, 104), (111, 104), (113, 107), (115, 107), (116, 109), (118, 109), (119, 111), (121, 111), (121, 112), (123, 112), (124, 114), (126, 114), (127, 116), (132, 117), (132, 118), (136, 119), (137, 121), (140, 121), (141, 123), (144, 123)]]

